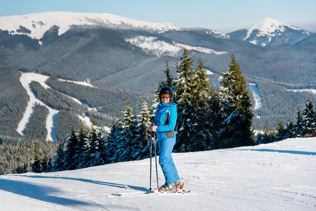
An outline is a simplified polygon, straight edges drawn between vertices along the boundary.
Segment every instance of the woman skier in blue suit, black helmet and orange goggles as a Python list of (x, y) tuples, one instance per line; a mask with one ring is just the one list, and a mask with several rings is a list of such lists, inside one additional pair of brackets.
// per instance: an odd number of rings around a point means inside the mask
[(177, 122), (177, 104), (172, 101), (173, 91), (165, 86), (159, 91), (158, 105), (153, 126), (149, 132), (156, 132), (160, 151), (159, 164), (163, 170), (166, 183), (160, 187), (162, 192), (177, 192), (180, 187), (180, 178), (172, 160), (171, 152), (176, 143), (175, 127)]

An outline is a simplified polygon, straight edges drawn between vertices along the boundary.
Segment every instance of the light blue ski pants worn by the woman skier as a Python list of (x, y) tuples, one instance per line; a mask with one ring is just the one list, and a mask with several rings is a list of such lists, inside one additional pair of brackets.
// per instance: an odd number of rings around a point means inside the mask
[(171, 152), (175, 143), (176, 138), (158, 139), (158, 147), (160, 151), (159, 164), (163, 170), (167, 184), (180, 179), (171, 156)]

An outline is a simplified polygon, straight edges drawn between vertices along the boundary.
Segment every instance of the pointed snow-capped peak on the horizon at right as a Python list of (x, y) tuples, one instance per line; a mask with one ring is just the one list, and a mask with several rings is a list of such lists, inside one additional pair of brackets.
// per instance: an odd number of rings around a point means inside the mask
[(272, 18), (264, 18), (246, 30), (229, 33), (232, 38), (242, 39), (260, 46), (294, 44), (311, 34), (304, 29)]

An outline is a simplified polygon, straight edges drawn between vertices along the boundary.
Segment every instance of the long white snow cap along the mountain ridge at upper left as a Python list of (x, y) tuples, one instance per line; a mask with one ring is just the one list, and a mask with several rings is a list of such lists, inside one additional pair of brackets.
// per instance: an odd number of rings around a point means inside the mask
[(0, 17), (0, 29), (10, 34), (26, 34), (34, 39), (40, 39), (52, 26), (59, 27), (58, 35), (67, 32), (72, 25), (121, 28), (140, 28), (158, 31), (182, 30), (170, 23), (150, 23), (128, 19), (105, 13), (74, 13), (74, 12), (43, 12), (22, 16)]

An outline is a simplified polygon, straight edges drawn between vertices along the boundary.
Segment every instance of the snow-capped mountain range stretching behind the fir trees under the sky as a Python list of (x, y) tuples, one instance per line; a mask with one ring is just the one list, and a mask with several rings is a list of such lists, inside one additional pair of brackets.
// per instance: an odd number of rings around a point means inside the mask
[(274, 127), (278, 119), (295, 117), (297, 105), (303, 107), (308, 97), (314, 99), (313, 94), (287, 89), (316, 88), (315, 36), (271, 18), (225, 34), (111, 14), (45, 12), (0, 17), (0, 64), (152, 94), (165, 79), (166, 61), (176, 77), (172, 66), (184, 47), (194, 60), (192, 68), (202, 59), (213, 84), (234, 54), (262, 98), (255, 121), (261, 128), (265, 122)]

